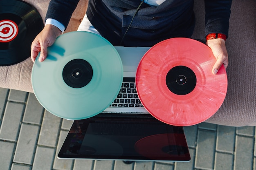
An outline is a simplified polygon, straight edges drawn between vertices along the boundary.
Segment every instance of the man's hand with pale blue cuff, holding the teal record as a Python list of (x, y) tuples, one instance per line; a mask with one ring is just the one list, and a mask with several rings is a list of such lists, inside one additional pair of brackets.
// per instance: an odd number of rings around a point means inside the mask
[(56, 26), (51, 24), (45, 25), (45, 28), (36, 36), (31, 44), (31, 60), (35, 62), (38, 53), (41, 52), (38, 60), (43, 62), (47, 57), (47, 47), (51, 46), (61, 34), (61, 30)]

